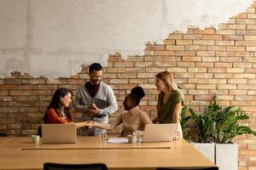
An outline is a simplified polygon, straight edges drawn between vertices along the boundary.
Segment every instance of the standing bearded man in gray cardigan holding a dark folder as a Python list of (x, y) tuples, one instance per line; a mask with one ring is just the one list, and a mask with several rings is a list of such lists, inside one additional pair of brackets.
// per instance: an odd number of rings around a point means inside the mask
[[(108, 116), (117, 111), (118, 104), (112, 88), (101, 82), (102, 65), (93, 63), (89, 67), (90, 82), (85, 82), (74, 100), (75, 111), (83, 112), (82, 121), (108, 122)], [(82, 134), (93, 136), (102, 133), (102, 129), (82, 129)]]

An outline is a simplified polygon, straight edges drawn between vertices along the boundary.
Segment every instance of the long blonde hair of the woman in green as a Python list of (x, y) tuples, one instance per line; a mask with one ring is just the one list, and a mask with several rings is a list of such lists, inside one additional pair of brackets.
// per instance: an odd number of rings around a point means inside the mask
[(169, 71), (162, 71), (158, 73), (155, 77), (159, 78), (160, 80), (166, 82), (167, 88), (172, 91), (179, 91), (177, 88), (177, 84), (175, 83), (174, 76)]

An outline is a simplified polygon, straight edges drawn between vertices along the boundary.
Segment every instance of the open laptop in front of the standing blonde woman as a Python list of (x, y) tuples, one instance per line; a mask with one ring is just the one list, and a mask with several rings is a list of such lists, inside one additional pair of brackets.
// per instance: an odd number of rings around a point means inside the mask
[(143, 133), (143, 142), (172, 141), (177, 130), (177, 123), (146, 124)]

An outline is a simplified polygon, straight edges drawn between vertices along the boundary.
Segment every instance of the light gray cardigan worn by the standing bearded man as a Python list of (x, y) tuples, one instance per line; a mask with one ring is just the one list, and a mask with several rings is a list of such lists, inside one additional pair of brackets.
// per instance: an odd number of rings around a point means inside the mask
[(94, 98), (91, 98), (85, 85), (82, 85), (78, 89), (74, 100), (74, 109), (75, 111), (83, 112), (83, 121), (91, 119), (88, 114), (88, 108), (92, 103), (96, 104), (100, 109), (99, 115), (93, 117), (93, 121), (95, 122), (108, 122), (108, 116), (118, 109), (112, 88), (104, 82), (100, 82), (99, 89)]

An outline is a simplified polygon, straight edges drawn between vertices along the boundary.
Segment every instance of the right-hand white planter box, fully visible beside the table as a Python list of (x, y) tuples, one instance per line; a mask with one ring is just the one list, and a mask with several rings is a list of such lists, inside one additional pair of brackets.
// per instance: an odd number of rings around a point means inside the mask
[(237, 144), (215, 144), (216, 165), (219, 170), (237, 170)]

